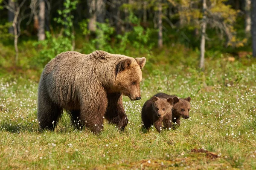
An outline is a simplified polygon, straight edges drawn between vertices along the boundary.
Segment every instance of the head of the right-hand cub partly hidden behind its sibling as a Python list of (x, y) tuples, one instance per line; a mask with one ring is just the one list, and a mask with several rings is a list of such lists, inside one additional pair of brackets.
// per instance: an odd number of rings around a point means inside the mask
[(190, 101), (190, 97), (184, 99), (174, 97), (172, 110), (174, 110), (176, 114), (182, 116), (184, 119), (187, 119), (189, 118)]

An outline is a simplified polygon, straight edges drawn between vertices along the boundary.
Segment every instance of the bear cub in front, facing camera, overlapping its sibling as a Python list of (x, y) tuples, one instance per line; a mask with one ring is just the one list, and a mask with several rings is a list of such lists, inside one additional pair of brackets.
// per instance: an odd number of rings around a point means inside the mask
[(172, 98), (158, 98), (153, 96), (142, 107), (141, 118), (146, 130), (154, 124), (160, 133), (165, 115), (172, 116)]

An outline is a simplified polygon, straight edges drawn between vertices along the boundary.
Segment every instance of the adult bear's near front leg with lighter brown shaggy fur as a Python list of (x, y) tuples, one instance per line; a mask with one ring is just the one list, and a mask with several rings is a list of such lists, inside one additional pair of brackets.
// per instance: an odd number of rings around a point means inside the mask
[(98, 134), (103, 130), (104, 116), (108, 105), (106, 92), (103, 88), (99, 91), (84, 95), (81, 100), (81, 124)]

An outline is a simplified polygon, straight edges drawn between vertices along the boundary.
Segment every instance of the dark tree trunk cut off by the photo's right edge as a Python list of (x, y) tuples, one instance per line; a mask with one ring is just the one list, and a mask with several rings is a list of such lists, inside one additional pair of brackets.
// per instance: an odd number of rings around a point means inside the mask
[(252, 23), (253, 57), (256, 57), (256, 0), (252, 1)]

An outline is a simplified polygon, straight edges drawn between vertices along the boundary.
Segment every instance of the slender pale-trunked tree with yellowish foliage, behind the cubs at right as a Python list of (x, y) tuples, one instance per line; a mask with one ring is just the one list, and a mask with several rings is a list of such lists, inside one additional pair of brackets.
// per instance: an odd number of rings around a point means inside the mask
[[(242, 46), (237, 43), (236, 31), (233, 28), (238, 11), (226, 4), (227, 0), (180, 0), (179, 15), (183, 18), (182, 25), (192, 27), (201, 26), (201, 59), (199, 68), (204, 70), (205, 42), (207, 40), (207, 25), (225, 35), (226, 45)], [(202, 3), (202, 10), (197, 7)], [(195, 5), (198, 4), (198, 5)], [(199, 21), (199, 23), (198, 23)]]

